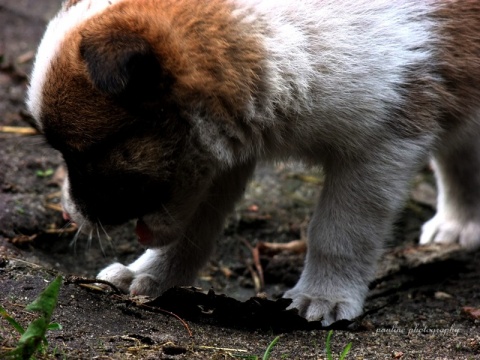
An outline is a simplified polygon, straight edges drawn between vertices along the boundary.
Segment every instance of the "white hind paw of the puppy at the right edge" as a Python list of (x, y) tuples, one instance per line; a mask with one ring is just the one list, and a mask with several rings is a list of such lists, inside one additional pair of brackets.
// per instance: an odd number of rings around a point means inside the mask
[(421, 245), (430, 243), (459, 243), (464, 248), (476, 249), (480, 247), (480, 219), (461, 221), (436, 214), (423, 225), (420, 236)]

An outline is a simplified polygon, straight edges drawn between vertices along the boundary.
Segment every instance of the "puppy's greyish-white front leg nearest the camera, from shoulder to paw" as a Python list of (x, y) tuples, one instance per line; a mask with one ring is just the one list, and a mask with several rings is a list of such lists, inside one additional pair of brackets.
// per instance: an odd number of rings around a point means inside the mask
[(421, 141), (399, 142), (325, 164), (305, 267), (284, 295), (308, 320), (329, 325), (361, 314), (382, 244), (411, 176), (426, 157)]

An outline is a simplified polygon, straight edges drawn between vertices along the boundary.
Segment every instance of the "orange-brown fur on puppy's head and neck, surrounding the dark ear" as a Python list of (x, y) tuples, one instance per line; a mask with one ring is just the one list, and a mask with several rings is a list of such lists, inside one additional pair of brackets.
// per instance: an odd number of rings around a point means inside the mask
[[(231, 11), (222, 0), (135, 0), (112, 5), (87, 20), (67, 36), (52, 64), (55, 70), (47, 76), (42, 109), (46, 133), (61, 129), (61, 137), (81, 149), (133, 120), (112, 96), (93, 86), (79, 51), (84, 39), (96, 37), (106, 39), (99, 51), (110, 51), (109, 34), (112, 39), (115, 34), (136, 34), (147, 40), (163, 72), (173, 78), (169, 93), (163, 94), (168, 101), (207, 113), (227, 127), (237, 126), (263, 88), (263, 49)], [(69, 124), (63, 123), (62, 114), (68, 114)]]

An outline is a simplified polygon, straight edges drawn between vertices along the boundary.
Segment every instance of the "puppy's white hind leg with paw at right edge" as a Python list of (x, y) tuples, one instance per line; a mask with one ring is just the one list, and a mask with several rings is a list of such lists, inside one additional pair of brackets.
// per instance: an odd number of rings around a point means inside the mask
[(446, 137), (434, 154), (437, 214), (423, 225), (420, 244), (480, 247), (480, 112), (477, 120)]

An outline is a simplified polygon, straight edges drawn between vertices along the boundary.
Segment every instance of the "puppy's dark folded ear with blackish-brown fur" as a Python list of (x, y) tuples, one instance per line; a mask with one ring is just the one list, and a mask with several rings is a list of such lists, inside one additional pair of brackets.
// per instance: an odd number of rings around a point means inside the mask
[(142, 36), (126, 31), (83, 32), (80, 55), (96, 88), (112, 96), (153, 95), (162, 69)]

